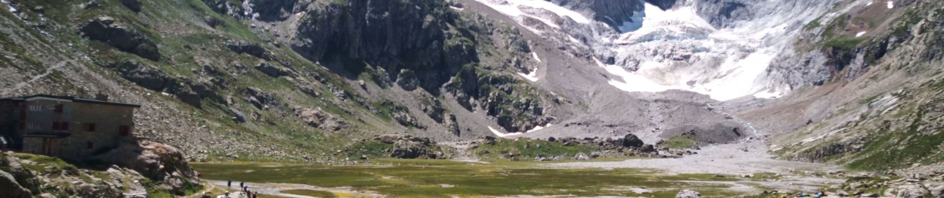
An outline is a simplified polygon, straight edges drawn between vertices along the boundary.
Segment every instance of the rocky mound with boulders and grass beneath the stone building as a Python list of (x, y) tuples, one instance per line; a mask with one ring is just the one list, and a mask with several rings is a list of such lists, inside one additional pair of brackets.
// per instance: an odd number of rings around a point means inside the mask
[(182, 159), (176, 148), (150, 142), (129, 144), (87, 161), (5, 152), (0, 153), (0, 190), (13, 198), (125, 197), (143, 192), (171, 197), (201, 190)]

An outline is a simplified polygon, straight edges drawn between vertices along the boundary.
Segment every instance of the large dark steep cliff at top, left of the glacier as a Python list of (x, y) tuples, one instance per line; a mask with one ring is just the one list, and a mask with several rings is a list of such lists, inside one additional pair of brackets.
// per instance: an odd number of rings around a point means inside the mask
[(420, 87), (436, 93), (462, 66), (478, 61), (477, 28), (459, 23), (444, 1), (348, 0), (308, 10), (291, 42), (312, 62), (339, 57), (388, 71), (410, 69)]

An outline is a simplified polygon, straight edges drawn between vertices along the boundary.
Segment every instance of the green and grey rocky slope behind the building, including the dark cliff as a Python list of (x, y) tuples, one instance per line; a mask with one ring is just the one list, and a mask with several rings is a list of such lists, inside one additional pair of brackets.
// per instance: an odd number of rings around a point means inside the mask
[(189, 160), (337, 160), (379, 134), (532, 129), (558, 105), (514, 75), (535, 62), (516, 29), (444, 1), (3, 3), (0, 94), (143, 104), (138, 135)]

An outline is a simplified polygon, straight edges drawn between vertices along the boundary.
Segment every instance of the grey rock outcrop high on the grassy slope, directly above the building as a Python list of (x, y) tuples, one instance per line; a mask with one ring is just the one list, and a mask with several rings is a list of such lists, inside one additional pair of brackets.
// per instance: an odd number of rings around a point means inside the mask
[(82, 26), (80, 31), (86, 38), (106, 42), (120, 51), (153, 61), (160, 59), (157, 44), (138, 31), (115, 23), (110, 17), (96, 17)]

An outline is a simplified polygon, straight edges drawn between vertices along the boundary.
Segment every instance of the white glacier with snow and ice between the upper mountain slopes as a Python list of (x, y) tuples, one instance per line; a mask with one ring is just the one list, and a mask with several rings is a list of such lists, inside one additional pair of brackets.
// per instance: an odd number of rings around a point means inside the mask
[[(593, 53), (592, 64), (613, 74), (615, 78), (609, 84), (620, 90), (680, 89), (721, 101), (778, 98), (788, 93), (792, 86), (770, 75), (769, 66), (776, 57), (792, 49), (790, 38), (797, 34), (797, 24), (808, 23), (817, 16), (804, 13), (795, 5), (778, 6), (792, 2), (775, 0), (757, 6), (772, 9), (770, 13), (717, 25), (700, 15), (700, 6), (711, 6), (703, 1), (680, 0), (667, 9), (640, 1), (644, 5), (642, 10), (632, 10), (628, 21), (610, 27), (589, 20), (594, 16), (593, 10), (575, 10), (548, 1), (476, 1), (512, 16), (535, 34), (579, 49), (575, 51)], [(553, 28), (525, 23), (526, 18)], [(572, 19), (573, 23), (559, 20), (564, 18)], [(519, 75), (536, 81), (533, 71)]]

